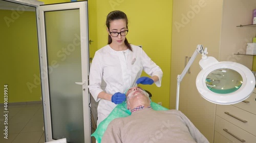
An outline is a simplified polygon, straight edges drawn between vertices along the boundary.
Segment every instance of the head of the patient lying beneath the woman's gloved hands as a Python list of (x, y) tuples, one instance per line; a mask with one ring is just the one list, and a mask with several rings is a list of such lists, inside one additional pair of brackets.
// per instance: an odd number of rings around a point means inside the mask
[(134, 109), (137, 106), (150, 106), (149, 95), (140, 87), (130, 88), (126, 92), (127, 109)]

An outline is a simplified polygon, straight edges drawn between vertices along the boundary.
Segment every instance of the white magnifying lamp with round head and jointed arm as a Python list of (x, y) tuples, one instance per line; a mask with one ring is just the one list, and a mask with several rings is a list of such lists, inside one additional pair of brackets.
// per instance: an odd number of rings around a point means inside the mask
[(218, 62), (214, 57), (207, 56), (207, 48), (197, 45), (188, 64), (177, 76), (176, 109), (179, 109), (180, 82), (198, 54), (201, 71), (196, 79), (197, 90), (201, 96), (215, 104), (229, 105), (248, 98), (255, 88), (255, 76), (244, 65), (235, 62)]

